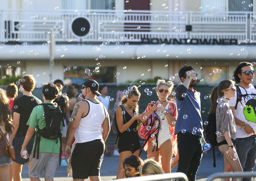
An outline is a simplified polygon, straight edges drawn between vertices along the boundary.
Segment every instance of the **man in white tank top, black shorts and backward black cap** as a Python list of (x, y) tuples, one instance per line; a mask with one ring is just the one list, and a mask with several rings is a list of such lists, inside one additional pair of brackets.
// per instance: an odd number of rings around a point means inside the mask
[(81, 90), (84, 100), (76, 103), (68, 125), (64, 152), (70, 157), (70, 146), (75, 138), (71, 159), (74, 180), (90, 177), (91, 181), (100, 181), (100, 165), (110, 121), (106, 107), (96, 98), (96, 94), (100, 95), (98, 88), (95, 80), (84, 82)]

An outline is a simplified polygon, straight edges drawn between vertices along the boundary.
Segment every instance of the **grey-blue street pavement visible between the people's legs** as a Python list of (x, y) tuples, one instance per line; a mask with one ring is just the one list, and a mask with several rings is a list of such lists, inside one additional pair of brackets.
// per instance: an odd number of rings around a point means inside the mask
[[(108, 146), (109, 150), (112, 151), (114, 146)], [(208, 150), (206, 153), (203, 153), (201, 165), (198, 169), (198, 173), (196, 176), (196, 181), (205, 181), (206, 178), (214, 173), (217, 172), (223, 172), (223, 156), (218, 150), (218, 148), (215, 148), (215, 155), (216, 155), (216, 167), (213, 167), (213, 155), (212, 155), (212, 149)], [(140, 157), (144, 160), (147, 159), (147, 153), (145, 151), (142, 151), (142, 154)], [(118, 163), (119, 163), (119, 157), (104, 157), (102, 166), (100, 169), (100, 177), (102, 181), (108, 181), (116, 178), (116, 174), (118, 171)], [(176, 172), (177, 166), (172, 169), (172, 173)], [(41, 175), (41, 180), (44, 180), (44, 173)], [(89, 178), (88, 178), (89, 179)], [(56, 173), (54, 176), (55, 181), (72, 181), (72, 177), (68, 177), (67, 174), (67, 168), (57, 166)], [(214, 181), (220, 181), (221, 179), (215, 179)], [(22, 168), (22, 181), (30, 181), (28, 177), (28, 165), (23, 165)]]

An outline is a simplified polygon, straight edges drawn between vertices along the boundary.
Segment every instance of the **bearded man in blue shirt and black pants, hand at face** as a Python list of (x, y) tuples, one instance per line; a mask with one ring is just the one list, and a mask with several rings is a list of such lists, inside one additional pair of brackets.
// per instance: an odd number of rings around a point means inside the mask
[(191, 66), (179, 71), (182, 84), (176, 88), (178, 118), (174, 134), (177, 135), (179, 162), (177, 172), (185, 173), (189, 181), (196, 180), (204, 144), (200, 95), (194, 90), (197, 74)]

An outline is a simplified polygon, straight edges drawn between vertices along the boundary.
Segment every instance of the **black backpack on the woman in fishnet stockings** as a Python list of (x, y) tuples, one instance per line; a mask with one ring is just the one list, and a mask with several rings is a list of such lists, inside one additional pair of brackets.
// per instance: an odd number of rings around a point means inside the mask
[(218, 145), (217, 142), (217, 135), (216, 135), (216, 113), (211, 112), (208, 116), (208, 124), (206, 125), (205, 135), (208, 141), (212, 145), (212, 154), (213, 154), (213, 167), (216, 167), (216, 160), (215, 160), (215, 151), (214, 147)]

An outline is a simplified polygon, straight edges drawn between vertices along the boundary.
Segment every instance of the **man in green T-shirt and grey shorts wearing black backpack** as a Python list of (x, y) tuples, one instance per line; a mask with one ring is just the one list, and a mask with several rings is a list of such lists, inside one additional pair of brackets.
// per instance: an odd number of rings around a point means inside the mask
[[(28, 119), (27, 125), (29, 125), (29, 128), (20, 155), (22, 157), (26, 156), (26, 152), (24, 153), (24, 151), (26, 151), (26, 145), (34, 135), (36, 129), (36, 138), (34, 139), (33, 150), (30, 154), (28, 176), (30, 179), (39, 179), (44, 171), (44, 179), (53, 180), (61, 154), (60, 131), (63, 128), (64, 116), (60, 108), (55, 107), (53, 104), (53, 100), (60, 92), (58, 87), (55, 84), (46, 83), (43, 86), (42, 92), (44, 104), (34, 107)], [(56, 110), (56, 113), (54, 113), (54, 110)], [(58, 119), (56, 119), (56, 115)], [(56, 125), (56, 127), (53, 127), (54, 125)]]

